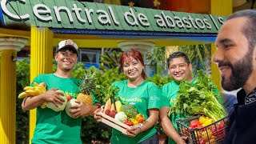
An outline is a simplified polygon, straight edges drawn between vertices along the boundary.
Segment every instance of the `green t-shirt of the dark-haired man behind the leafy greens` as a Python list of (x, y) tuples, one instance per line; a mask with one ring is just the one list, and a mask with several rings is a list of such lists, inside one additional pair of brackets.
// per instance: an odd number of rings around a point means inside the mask
[[(196, 81), (197, 78), (194, 78), (192, 82), (190, 82), (192, 85), (194, 84), (194, 82)], [(162, 96), (166, 97), (168, 100), (167, 102), (169, 102), (169, 104), (166, 104), (166, 106), (172, 106), (174, 99), (177, 97), (178, 95), (178, 90), (179, 90), (179, 84), (175, 81), (169, 82), (166, 85), (161, 87), (162, 90)], [(219, 94), (218, 90), (214, 91), (214, 94)], [(219, 102), (222, 103), (222, 99), (218, 99)], [(177, 128), (177, 123), (176, 120), (178, 119), (185, 119), (186, 117), (182, 117), (180, 114), (170, 114), (170, 122), (173, 123), (174, 128), (176, 130), (178, 130)], [(168, 140), (169, 144), (171, 143), (175, 143), (173, 139), (169, 138)]]

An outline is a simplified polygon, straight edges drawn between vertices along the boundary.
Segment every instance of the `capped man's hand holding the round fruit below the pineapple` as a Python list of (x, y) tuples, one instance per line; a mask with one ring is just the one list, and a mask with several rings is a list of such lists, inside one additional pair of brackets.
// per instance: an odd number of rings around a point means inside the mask
[(91, 106), (87, 106), (79, 100), (75, 100), (75, 102), (77, 102), (78, 105), (70, 107), (70, 114), (72, 118), (86, 117), (90, 114)]

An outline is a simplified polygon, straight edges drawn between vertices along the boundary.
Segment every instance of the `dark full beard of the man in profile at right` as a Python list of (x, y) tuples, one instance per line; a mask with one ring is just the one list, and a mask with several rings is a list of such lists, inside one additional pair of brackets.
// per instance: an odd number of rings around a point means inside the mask
[(238, 90), (245, 85), (253, 71), (253, 53), (248, 51), (244, 58), (235, 62), (233, 65), (230, 62), (220, 62), (218, 66), (230, 66), (232, 74), (230, 78), (222, 77), (222, 88), (226, 91)]

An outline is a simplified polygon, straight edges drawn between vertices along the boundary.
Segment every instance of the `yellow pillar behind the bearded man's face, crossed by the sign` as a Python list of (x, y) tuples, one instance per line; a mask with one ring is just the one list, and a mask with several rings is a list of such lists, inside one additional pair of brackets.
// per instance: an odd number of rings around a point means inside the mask
[[(232, 0), (211, 0), (210, 1), (211, 14), (219, 16), (229, 16), (233, 12)], [(216, 46), (214, 43), (211, 44), (211, 54), (213, 56), (216, 51)], [(211, 63), (211, 74), (215, 85), (218, 87), (219, 91), (222, 91), (221, 77), (218, 70), (218, 66), (212, 62)]]

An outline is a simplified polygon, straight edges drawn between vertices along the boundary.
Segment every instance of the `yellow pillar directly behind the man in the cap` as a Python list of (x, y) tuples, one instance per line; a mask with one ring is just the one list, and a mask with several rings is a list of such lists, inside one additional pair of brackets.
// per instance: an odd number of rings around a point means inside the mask
[[(48, 28), (31, 26), (30, 30), (30, 82), (38, 74), (50, 74), (53, 70), (53, 38)], [(36, 109), (30, 110), (30, 143), (34, 136)]]

